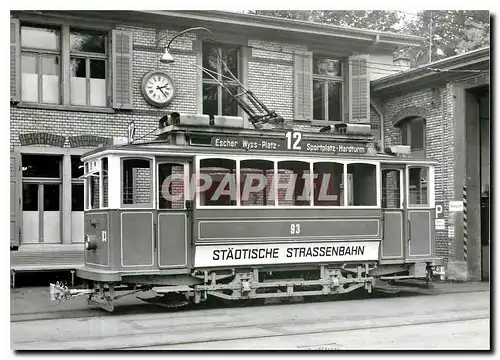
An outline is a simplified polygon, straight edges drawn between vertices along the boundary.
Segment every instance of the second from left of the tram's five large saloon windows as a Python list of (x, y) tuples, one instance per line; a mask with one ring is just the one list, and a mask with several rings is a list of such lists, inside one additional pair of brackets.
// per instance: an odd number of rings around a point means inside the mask
[(240, 203), (242, 206), (274, 205), (274, 162), (242, 160), (240, 162)]

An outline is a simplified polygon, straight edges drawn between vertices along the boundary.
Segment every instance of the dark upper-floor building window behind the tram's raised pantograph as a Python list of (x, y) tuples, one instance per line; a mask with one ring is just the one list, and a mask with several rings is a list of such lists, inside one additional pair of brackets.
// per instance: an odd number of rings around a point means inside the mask
[(232, 75), (239, 77), (238, 48), (203, 44), (203, 67), (203, 114), (238, 116), (237, 102), (218, 83), (224, 81), (233, 94), (238, 92), (238, 83), (230, 80)]

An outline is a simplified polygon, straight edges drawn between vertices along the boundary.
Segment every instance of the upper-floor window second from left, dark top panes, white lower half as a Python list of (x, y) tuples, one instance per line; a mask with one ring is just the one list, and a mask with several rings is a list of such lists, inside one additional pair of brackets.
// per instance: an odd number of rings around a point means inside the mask
[(70, 29), (71, 105), (107, 106), (107, 37)]

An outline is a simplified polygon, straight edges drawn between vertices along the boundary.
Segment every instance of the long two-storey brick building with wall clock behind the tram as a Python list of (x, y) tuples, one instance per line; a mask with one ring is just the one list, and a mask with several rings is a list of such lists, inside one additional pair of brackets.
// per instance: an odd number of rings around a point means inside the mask
[[(165, 44), (195, 26), (209, 28), (216, 41), (185, 34), (171, 46), (176, 63), (161, 64)], [(392, 69), (399, 46), (421, 41), (221, 11), (11, 12), (12, 269), (82, 262), (81, 154), (123, 141), (132, 122), (136, 138), (148, 139), (168, 112), (245, 120), (193, 66), (220, 72), (213, 52), (287, 122), (317, 131), (336, 122), (370, 123), (369, 84), (382, 76), (369, 71), (371, 64)], [(166, 106), (146, 100), (143, 85), (154, 70), (175, 86)], [(380, 126), (372, 122), (375, 136)]]

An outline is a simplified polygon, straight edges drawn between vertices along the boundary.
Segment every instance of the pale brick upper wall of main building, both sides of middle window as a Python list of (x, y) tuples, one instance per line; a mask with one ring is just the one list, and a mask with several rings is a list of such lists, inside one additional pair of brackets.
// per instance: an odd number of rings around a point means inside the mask
[[(31, 132), (48, 132), (63, 136), (99, 134), (103, 137), (125, 137), (127, 126), (135, 122), (136, 137), (142, 140), (152, 139), (146, 136), (157, 127), (158, 120), (165, 112), (196, 113), (199, 84), (196, 63), (197, 54), (193, 49), (195, 34), (179, 37), (171, 49), (178, 61), (164, 65), (159, 62), (159, 48), (153, 48), (156, 40), (168, 34), (159, 46), (164, 45), (176, 32), (157, 30), (130, 25), (118, 25), (118, 30), (131, 31), (133, 34), (133, 110), (121, 110), (114, 113), (82, 112), (65, 110), (48, 110), (10, 108), (11, 150), (19, 146), (19, 135)], [(248, 57), (248, 87), (268, 106), (283, 116), (288, 123), (294, 118), (294, 58), (296, 50), (307, 50), (306, 46), (292, 45), (261, 40), (248, 40), (250, 47)], [(269, 51), (263, 50), (269, 49)], [(177, 95), (165, 109), (158, 109), (147, 103), (141, 92), (144, 75), (153, 70), (166, 70), (176, 84)], [(302, 131), (318, 131), (321, 126), (307, 123), (294, 123), (294, 127)], [(265, 128), (271, 127), (270, 125)], [(377, 129), (374, 129), (378, 136)], [(70, 145), (66, 141), (65, 147)]]

